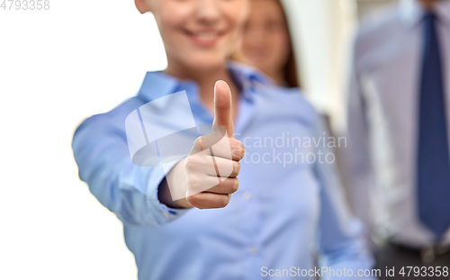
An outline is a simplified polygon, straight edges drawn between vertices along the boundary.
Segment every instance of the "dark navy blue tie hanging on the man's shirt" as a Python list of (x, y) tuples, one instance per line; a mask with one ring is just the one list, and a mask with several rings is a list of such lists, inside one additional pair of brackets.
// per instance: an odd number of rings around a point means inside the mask
[(450, 159), (436, 23), (436, 15), (425, 15), (419, 104), (418, 187), (420, 220), (438, 239), (450, 227)]

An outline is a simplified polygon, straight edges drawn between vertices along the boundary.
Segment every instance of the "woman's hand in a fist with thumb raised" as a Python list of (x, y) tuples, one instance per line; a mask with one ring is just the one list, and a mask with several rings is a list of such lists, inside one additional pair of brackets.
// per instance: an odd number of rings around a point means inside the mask
[(239, 160), (244, 154), (244, 145), (234, 138), (229, 86), (218, 81), (214, 86), (212, 132), (195, 140), (185, 159), (187, 203), (200, 209), (228, 205), (231, 194), (238, 190)]

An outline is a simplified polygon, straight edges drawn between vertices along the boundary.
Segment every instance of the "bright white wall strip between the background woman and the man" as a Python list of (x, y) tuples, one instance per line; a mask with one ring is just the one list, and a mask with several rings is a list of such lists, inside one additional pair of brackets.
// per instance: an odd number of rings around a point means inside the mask
[(311, 103), (329, 114), (335, 129), (344, 122), (348, 48), (356, 24), (356, 0), (283, 0), (301, 51), (302, 82)]

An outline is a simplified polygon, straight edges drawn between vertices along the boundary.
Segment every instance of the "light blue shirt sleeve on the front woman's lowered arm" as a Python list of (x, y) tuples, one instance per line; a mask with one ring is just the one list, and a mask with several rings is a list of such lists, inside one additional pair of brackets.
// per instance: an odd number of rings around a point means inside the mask
[[(326, 132), (321, 119), (315, 125), (315, 131), (316, 137), (323, 137), (323, 132)], [(321, 152), (332, 152), (328, 145), (325, 146), (320, 147), (325, 149)], [(347, 207), (334, 163), (318, 160), (314, 172), (320, 183), (319, 266), (328, 269), (323, 273), (323, 279), (375, 279), (364, 275), (366, 269), (372, 271), (374, 258), (365, 247), (363, 224)], [(343, 272), (344, 269), (347, 276), (336, 274), (336, 271)]]

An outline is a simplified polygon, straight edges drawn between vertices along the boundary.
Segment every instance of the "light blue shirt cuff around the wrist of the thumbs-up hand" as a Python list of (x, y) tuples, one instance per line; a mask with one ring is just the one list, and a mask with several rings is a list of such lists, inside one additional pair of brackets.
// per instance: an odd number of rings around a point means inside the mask
[[(172, 170), (178, 161), (171, 163), (167, 170)], [(147, 188), (148, 207), (149, 213), (153, 215), (153, 219), (157, 221), (158, 225), (163, 225), (166, 222), (174, 221), (176, 218), (182, 216), (185, 212), (189, 211), (189, 208), (175, 209), (168, 207), (166, 204), (161, 203), (157, 198), (157, 191), (159, 185), (166, 177), (163, 167), (156, 167), (152, 176), (150, 176)]]

